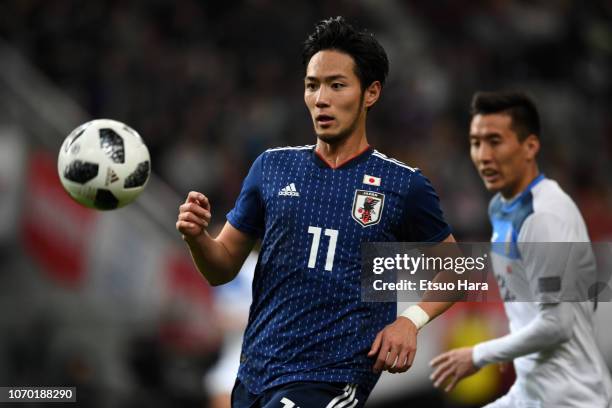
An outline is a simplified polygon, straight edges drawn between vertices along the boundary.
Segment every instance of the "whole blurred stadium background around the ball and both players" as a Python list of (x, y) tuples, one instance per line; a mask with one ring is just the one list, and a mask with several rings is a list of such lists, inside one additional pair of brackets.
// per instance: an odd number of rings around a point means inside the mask
[[(458, 240), (489, 238), (468, 107), (474, 91), (499, 88), (535, 97), (542, 170), (577, 201), (593, 240), (612, 240), (610, 1), (3, 0), (0, 385), (73, 385), (87, 406), (210, 406), (202, 377), (222, 354), (225, 305), (174, 231), (177, 207), (202, 191), (219, 227), (262, 150), (314, 142), (301, 42), (334, 15), (386, 47), (370, 142), (423, 169)], [(154, 177), (125, 209), (86, 210), (60, 187), (59, 146), (90, 118), (128, 123), (151, 151)], [(612, 365), (609, 311), (598, 338)], [(493, 399), (512, 374), (491, 367), (444, 396), (427, 362), (505, 330), (499, 304), (455, 306), (369, 406)]]

